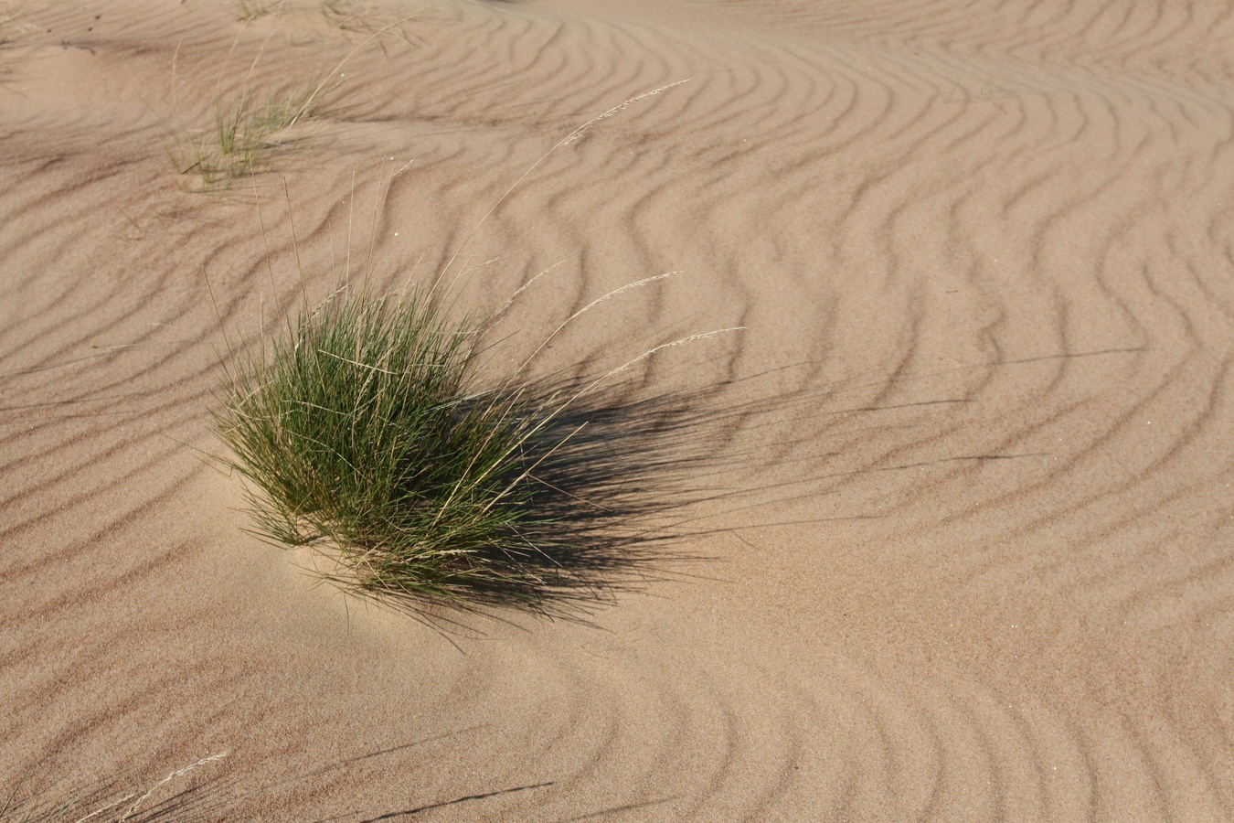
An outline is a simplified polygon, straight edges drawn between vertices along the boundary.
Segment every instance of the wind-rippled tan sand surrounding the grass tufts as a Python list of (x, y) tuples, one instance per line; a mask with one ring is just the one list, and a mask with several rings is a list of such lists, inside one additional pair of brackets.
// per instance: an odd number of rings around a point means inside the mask
[[(159, 819), (1234, 818), (1234, 4), (241, 5), (0, 27), (0, 788), (227, 751)], [(169, 162), (315, 81), (273, 172)], [(555, 265), (494, 368), (668, 271), (533, 371), (745, 329), (580, 406), (568, 491), (645, 536), (585, 613), (344, 602), (209, 463), (297, 270), (460, 247), (460, 311)]]

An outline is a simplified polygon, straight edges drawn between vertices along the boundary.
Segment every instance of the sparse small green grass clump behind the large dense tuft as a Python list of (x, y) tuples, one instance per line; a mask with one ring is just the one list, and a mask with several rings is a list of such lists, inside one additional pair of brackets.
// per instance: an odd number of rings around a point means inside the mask
[(315, 81), (264, 99), (247, 89), (231, 106), (216, 107), (212, 130), (178, 141), (172, 160), (180, 174), (200, 175), (204, 189), (267, 172), (273, 155), (294, 142), (292, 127), (327, 114), (326, 97), (334, 88)]

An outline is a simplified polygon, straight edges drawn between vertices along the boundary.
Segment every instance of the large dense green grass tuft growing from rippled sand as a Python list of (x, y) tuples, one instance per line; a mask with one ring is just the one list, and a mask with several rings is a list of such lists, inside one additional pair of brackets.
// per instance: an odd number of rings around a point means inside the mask
[(344, 289), (238, 362), (216, 422), (254, 532), (327, 548), (327, 579), (386, 602), (538, 603), (550, 401), (476, 390), (476, 331), (423, 294)]

